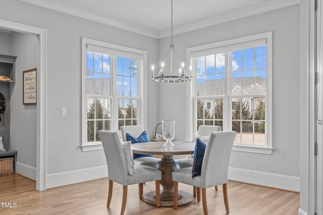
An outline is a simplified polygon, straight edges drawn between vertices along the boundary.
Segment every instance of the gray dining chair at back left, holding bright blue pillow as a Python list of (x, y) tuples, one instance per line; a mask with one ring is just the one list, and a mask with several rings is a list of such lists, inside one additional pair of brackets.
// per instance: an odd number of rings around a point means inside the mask
[[(121, 126), (120, 130), (121, 130), (122, 141), (127, 141), (126, 133), (130, 133), (131, 135), (137, 137), (144, 131), (142, 125)], [(135, 165), (145, 165), (145, 166), (155, 168), (157, 163), (160, 161), (160, 159), (152, 158), (152, 157), (143, 157), (143, 158), (136, 158), (134, 161), (135, 161)]]

